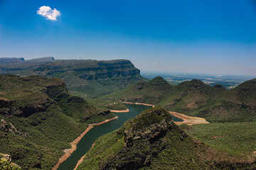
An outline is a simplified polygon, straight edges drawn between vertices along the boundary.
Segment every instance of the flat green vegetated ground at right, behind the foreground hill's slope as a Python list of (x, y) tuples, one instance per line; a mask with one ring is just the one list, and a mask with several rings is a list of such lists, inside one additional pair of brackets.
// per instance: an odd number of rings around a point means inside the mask
[(256, 122), (210, 123), (192, 125), (185, 129), (189, 135), (211, 147), (224, 150), (234, 156), (247, 157), (256, 151), (255, 127)]

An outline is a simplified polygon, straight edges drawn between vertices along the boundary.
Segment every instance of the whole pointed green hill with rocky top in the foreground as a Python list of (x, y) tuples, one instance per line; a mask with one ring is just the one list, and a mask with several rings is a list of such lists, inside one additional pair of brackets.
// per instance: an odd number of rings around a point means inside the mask
[(255, 163), (230, 157), (194, 140), (163, 108), (151, 108), (103, 135), (78, 169), (253, 169)]

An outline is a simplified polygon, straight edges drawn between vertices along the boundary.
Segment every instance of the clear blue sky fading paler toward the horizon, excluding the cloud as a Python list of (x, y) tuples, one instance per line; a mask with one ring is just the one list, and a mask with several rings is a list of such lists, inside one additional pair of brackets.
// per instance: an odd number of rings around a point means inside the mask
[[(41, 6), (60, 16), (38, 15)], [(0, 57), (48, 56), (256, 76), (256, 1), (0, 0)]]

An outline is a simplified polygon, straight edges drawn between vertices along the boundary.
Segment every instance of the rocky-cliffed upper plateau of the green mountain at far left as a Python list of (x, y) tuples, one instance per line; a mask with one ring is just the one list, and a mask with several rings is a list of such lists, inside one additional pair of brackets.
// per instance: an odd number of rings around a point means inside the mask
[(0, 114), (8, 117), (28, 117), (33, 113), (44, 112), (58, 98), (70, 96), (65, 83), (60, 79), (45, 77), (18, 77), (0, 75)]

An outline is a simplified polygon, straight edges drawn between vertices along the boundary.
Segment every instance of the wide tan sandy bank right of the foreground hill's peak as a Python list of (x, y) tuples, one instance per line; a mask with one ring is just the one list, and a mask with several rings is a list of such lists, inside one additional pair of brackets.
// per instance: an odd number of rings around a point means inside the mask
[(199, 124), (208, 124), (209, 122), (205, 118), (198, 118), (193, 116), (188, 116), (182, 113), (177, 113), (174, 111), (169, 111), (171, 115), (174, 115), (176, 118), (181, 118), (183, 122), (174, 122), (176, 125), (187, 124), (187, 125), (199, 125)]

